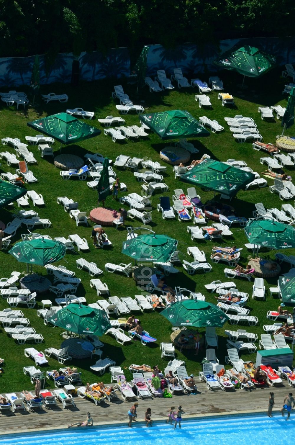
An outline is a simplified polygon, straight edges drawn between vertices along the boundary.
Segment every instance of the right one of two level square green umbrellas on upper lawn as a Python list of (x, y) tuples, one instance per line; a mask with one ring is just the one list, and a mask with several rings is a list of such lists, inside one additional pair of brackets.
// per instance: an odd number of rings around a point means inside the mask
[(188, 111), (172, 110), (159, 113), (141, 114), (144, 122), (161, 139), (194, 138), (209, 136), (210, 133), (202, 127)]

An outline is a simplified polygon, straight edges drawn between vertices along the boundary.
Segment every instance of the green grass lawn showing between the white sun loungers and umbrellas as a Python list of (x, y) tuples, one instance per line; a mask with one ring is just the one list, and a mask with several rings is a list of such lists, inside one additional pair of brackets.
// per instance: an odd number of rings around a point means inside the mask
[[(245, 83), (248, 86), (247, 89), (241, 89), (237, 84), (241, 82), (241, 77), (234, 76), (232, 73), (228, 74), (226, 71), (221, 73), (224, 85), (226, 85), (227, 92), (233, 94), (236, 106), (234, 108), (222, 107), (221, 101), (218, 101), (217, 93), (210, 94), (210, 100), (212, 102), (212, 109), (204, 110), (199, 109), (198, 104), (194, 100), (194, 94), (197, 93), (196, 89), (187, 90), (177, 90), (175, 89), (169, 93), (154, 93), (148, 92), (148, 89), (144, 89), (137, 98), (136, 86), (129, 84), (128, 81), (123, 82), (123, 87), (126, 93), (129, 94), (134, 100), (134, 103), (142, 104), (145, 107), (146, 112), (154, 112), (161, 110), (172, 110), (172, 109), (186, 109), (194, 117), (206, 115), (212, 119), (218, 120), (221, 125), (224, 125), (225, 129), (221, 134), (210, 134), (208, 138), (200, 138), (191, 141), (198, 148), (199, 154), (193, 155), (192, 158), (200, 158), (202, 154), (208, 153), (211, 158), (215, 158), (220, 161), (226, 161), (228, 158), (242, 159), (247, 162), (254, 171), (261, 173), (266, 169), (266, 166), (260, 164), (260, 157), (267, 156), (266, 153), (257, 152), (252, 149), (251, 143), (238, 143), (234, 141), (234, 138), (230, 134), (230, 130), (226, 125), (223, 117), (234, 116), (236, 114), (242, 114), (244, 116), (251, 116), (254, 118), (259, 132), (263, 135), (265, 142), (275, 142), (275, 136), (282, 133), (282, 128), (280, 121), (275, 122), (265, 122), (261, 120), (260, 114), (258, 113), (258, 107), (260, 105), (276, 105), (280, 104), (286, 106), (287, 97), (282, 96), (282, 91), (284, 84), (286, 83), (284, 79), (279, 78), (279, 71), (272, 71), (266, 77), (262, 77), (259, 80), (246, 79)], [(201, 77), (202, 78), (202, 77)], [(206, 80), (205, 78), (203, 80)], [(28, 121), (32, 121), (38, 117), (44, 117), (46, 115), (51, 115), (60, 111), (65, 111), (66, 108), (83, 107), (85, 110), (94, 111), (95, 119), (91, 122), (94, 126), (101, 128), (102, 134), (97, 138), (90, 139), (88, 141), (83, 141), (79, 145), (70, 145), (62, 149), (63, 153), (77, 154), (83, 158), (85, 153), (102, 153), (104, 156), (108, 156), (110, 159), (115, 160), (119, 154), (128, 154), (129, 156), (137, 157), (148, 157), (153, 161), (159, 161), (159, 151), (162, 147), (169, 145), (167, 142), (162, 142), (158, 136), (155, 134), (150, 134), (148, 140), (138, 141), (138, 142), (125, 142), (123, 144), (114, 144), (109, 136), (104, 136), (103, 128), (97, 122), (97, 117), (105, 117), (107, 115), (117, 116), (117, 110), (115, 105), (117, 101), (111, 99), (111, 92), (113, 91), (113, 85), (120, 83), (121, 81), (100, 81), (95, 83), (81, 83), (78, 88), (73, 89), (69, 85), (50, 85), (43, 86), (41, 93), (48, 93), (49, 91), (54, 91), (55, 93), (67, 93), (69, 96), (69, 101), (67, 104), (60, 104), (59, 102), (44, 105), (39, 103), (35, 107), (29, 107), (28, 110), (18, 110), (15, 107), (6, 107), (6, 105), (1, 102), (2, 106), (0, 109), (0, 136), (1, 138), (11, 137), (19, 138), (22, 142), (25, 141), (25, 136), (35, 135), (35, 132), (28, 128), (26, 125)], [(23, 88), (19, 88), (23, 90)], [(125, 125), (135, 125), (138, 124), (137, 114), (128, 114), (125, 118)], [(286, 134), (291, 135), (292, 129), (286, 131)], [(61, 205), (57, 205), (57, 196), (68, 196), (73, 198), (74, 201), (78, 201), (79, 209), (81, 211), (89, 211), (97, 206), (97, 192), (90, 190), (86, 186), (86, 182), (70, 180), (65, 181), (60, 177), (59, 170), (55, 168), (53, 164), (53, 159), (41, 159), (40, 152), (37, 150), (37, 146), (30, 146), (30, 150), (33, 152), (34, 156), (38, 160), (35, 165), (30, 165), (29, 168), (32, 170), (33, 174), (38, 179), (38, 182), (32, 185), (26, 186), (29, 190), (34, 189), (37, 193), (40, 193), (44, 197), (45, 206), (44, 208), (36, 208), (40, 218), (49, 218), (52, 222), (50, 229), (37, 229), (40, 233), (48, 234), (52, 237), (55, 236), (65, 236), (68, 237), (69, 234), (78, 233), (81, 238), (85, 237), (89, 241), (90, 251), (87, 253), (82, 253), (83, 258), (94, 261), (97, 266), (104, 270), (105, 263), (129, 263), (129, 257), (121, 255), (121, 245), (122, 241), (126, 239), (126, 230), (116, 230), (114, 227), (107, 228), (106, 232), (109, 239), (112, 241), (113, 246), (110, 250), (97, 250), (92, 246), (92, 240), (90, 239), (92, 223), (90, 222), (89, 227), (79, 226), (76, 227), (76, 223), (69, 218), (69, 214), (66, 214)], [(14, 151), (11, 147), (2, 146), (2, 151), (9, 150)], [(59, 154), (60, 147), (59, 143), (54, 146), (54, 154)], [(8, 167), (5, 161), (2, 161), (0, 167), (1, 173), (10, 171), (14, 173), (12, 167)], [(141, 193), (141, 183), (137, 182), (133, 177), (133, 173), (130, 170), (117, 171), (117, 176), (122, 182), (128, 186), (128, 193), (137, 192)], [(291, 170), (287, 170), (288, 174), (292, 175)], [(294, 179), (294, 176), (293, 176)], [(164, 181), (169, 186), (169, 191), (166, 195), (172, 198), (174, 194), (174, 189), (183, 188), (186, 190), (187, 184), (181, 182), (180, 180), (174, 179), (174, 172), (172, 166), (168, 166), (167, 174), (164, 177)], [(272, 185), (273, 181), (267, 179), (268, 185)], [(210, 191), (198, 190), (201, 195), (202, 201), (213, 198), (214, 193)], [(32, 201), (31, 201), (32, 202)], [(178, 239), (178, 248), (181, 259), (192, 260), (186, 254), (186, 248), (188, 246), (197, 245), (201, 250), (204, 250), (207, 259), (210, 258), (212, 242), (192, 242), (190, 235), (186, 232), (188, 223), (180, 223), (177, 219), (173, 221), (163, 221), (162, 214), (157, 212), (157, 204), (159, 202), (159, 195), (154, 195), (152, 197), (152, 216), (153, 220), (150, 223), (150, 227), (156, 231), (156, 233), (164, 233), (170, 235), (171, 237)], [(252, 217), (252, 210), (254, 209), (254, 204), (256, 202), (263, 202), (266, 208), (277, 207), (281, 208), (282, 202), (279, 200), (279, 196), (276, 194), (271, 194), (268, 187), (258, 190), (241, 190), (238, 192), (237, 197), (231, 201), (231, 205), (237, 211), (240, 216), (246, 216), (248, 218)], [(172, 201), (171, 201), (172, 203)], [(292, 202), (291, 202), (292, 203)], [(121, 205), (119, 202), (112, 201), (112, 197), (109, 197), (106, 201), (106, 206), (111, 206), (118, 209)], [(33, 208), (31, 206), (31, 208)], [(17, 208), (16, 204), (12, 208), (10, 206), (5, 209), (0, 209), (0, 219), (4, 223), (12, 220), (12, 213), (20, 210)], [(129, 225), (137, 227), (140, 224), (136, 220), (128, 221)], [(210, 221), (208, 221), (210, 223)], [(243, 229), (234, 226), (232, 229), (234, 236), (232, 238), (224, 238), (222, 244), (234, 245), (238, 247), (244, 247), (244, 243), (247, 242), (246, 236), (244, 235)], [(17, 235), (13, 238), (13, 243), (20, 241), (20, 234), (26, 232), (26, 230), (20, 229), (17, 231)], [(291, 254), (291, 250), (284, 252), (286, 254)], [(250, 257), (251, 252), (247, 251), (244, 247), (241, 255), (241, 262), (244, 266), (247, 264), (247, 260)], [(266, 258), (274, 259), (275, 251), (266, 251), (263, 253)], [(76, 272), (76, 276), (81, 278), (82, 284), (79, 286), (77, 295), (85, 296), (87, 303), (93, 303), (97, 300), (96, 291), (91, 289), (89, 286), (89, 279), (91, 278), (86, 271), (80, 271), (76, 267), (75, 260), (79, 257), (76, 253), (67, 253), (65, 258), (58, 264), (62, 264), (67, 268)], [(206, 291), (204, 285), (210, 283), (215, 279), (221, 279), (224, 281), (223, 269), (225, 263), (214, 264), (212, 271), (206, 274), (189, 276), (186, 274), (181, 265), (177, 265), (179, 273), (177, 275), (169, 276), (166, 282), (171, 285), (180, 285), (181, 287), (187, 287), (192, 291), (199, 291), (206, 295), (206, 300), (211, 303), (216, 303), (214, 295)], [(20, 271), (25, 273), (26, 265), (23, 263), (17, 263), (16, 260), (7, 253), (7, 251), (0, 252), (0, 277), (9, 277), (12, 271)], [(33, 271), (46, 275), (46, 270), (44, 267), (33, 267)], [(282, 268), (282, 271), (287, 271), (287, 268)], [(122, 275), (109, 274), (104, 272), (99, 278), (108, 284), (110, 295), (131, 296), (141, 293), (141, 290), (135, 286), (135, 282), (132, 278), (127, 278)], [(247, 307), (251, 310), (250, 315), (257, 316), (259, 318), (259, 326), (247, 327), (250, 332), (256, 332), (259, 337), (263, 333), (263, 324), (267, 323), (266, 313), (270, 309), (275, 309), (279, 305), (278, 299), (271, 299), (269, 292), (267, 292), (266, 301), (255, 301), (251, 299), (252, 295), (252, 282), (245, 280), (237, 281), (237, 287), (240, 291), (245, 291), (250, 294), (250, 299)], [(267, 290), (270, 286), (276, 284), (276, 279), (265, 280), (265, 285)], [(38, 296), (40, 307), (40, 300), (44, 298), (52, 299), (54, 302), (54, 295), (47, 294)], [(8, 307), (5, 299), (0, 300), (0, 310)], [(36, 332), (40, 332), (44, 336), (44, 343), (37, 345), (36, 348), (40, 348), (44, 351), (45, 348), (55, 347), (59, 348), (61, 345), (61, 328), (46, 327), (43, 323), (43, 319), (37, 317), (37, 305), (35, 309), (22, 309), (24, 316), (29, 318), (31, 326), (36, 329)], [(154, 366), (158, 364), (159, 368), (165, 368), (166, 361), (161, 360), (160, 353), (160, 343), (161, 341), (170, 341), (171, 334), (171, 324), (168, 320), (162, 317), (157, 312), (144, 313), (140, 315), (141, 324), (144, 329), (146, 329), (150, 334), (156, 337), (158, 340), (156, 344), (152, 346), (142, 346), (140, 342), (134, 341), (132, 344), (121, 347), (117, 344), (113, 337), (103, 336), (101, 340), (105, 344), (103, 349), (104, 357), (110, 357), (116, 360), (117, 365), (121, 367), (128, 367), (131, 363), (136, 364), (150, 364)], [(268, 323), (271, 323), (270, 321)], [(219, 346), (217, 350), (217, 356), (220, 363), (224, 363), (224, 356), (226, 355), (226, 336), (224, 335), (225, 329), (238, 329), (241, 326), (232, 326), (225, 324), (223, 328), (217, 330), (219, 335)], [(204, 332), (201, 329), (200, 332)], [(23, 367), (33, 365), (34, 362), (24, 356), (24, 348), (28, 347), (28, 344), (20, 346), (8, 338), (4, 329), (0, 328), (1, 338), (0, 338), (0, 356), (4, 358), (4, 373), (1, 374), (0, 388), (1, 392), (9, 391), (20, 391), (24, 388), (30, 388), (31, 384), (28, 376), (24, 376)], [(177, 352), (177, 357), (186, 361), (187, 371), (193, 372), (201, 370), (201, 360), (204, 357), (205, 349), (200, 352), (199, 356), (196, 358), (194, 356), (194, 351), (183, 353)], [(255, 359), (255, 354), (253, 355), (242, 355), (245, 360)], [(92, 365), (96, 360), (73, 360), (69, 365), (76, 366), (80, 371), (82, 371), (83, 382), (89, 381), (93, 383), (97, 381), (97, 375), (89, 371), (89, 366)], [(48, 366), (44, 367), (44, 371), (48, 369), (59, 368), (57, 360), (49, 359)], [(127, 378), (129, 378), (129, 372), (126, 370)], [(102, 380), (105, 382), (109, 381), (109, 374), (102, 376)], [(52, 383), (51, 383), (52, 385)]]

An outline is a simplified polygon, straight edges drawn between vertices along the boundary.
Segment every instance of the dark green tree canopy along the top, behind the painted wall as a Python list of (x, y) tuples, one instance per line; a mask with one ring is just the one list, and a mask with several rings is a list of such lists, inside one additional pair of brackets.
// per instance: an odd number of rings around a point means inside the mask
[(0, 0), (0, 57), (294, 36), (294, 0)]

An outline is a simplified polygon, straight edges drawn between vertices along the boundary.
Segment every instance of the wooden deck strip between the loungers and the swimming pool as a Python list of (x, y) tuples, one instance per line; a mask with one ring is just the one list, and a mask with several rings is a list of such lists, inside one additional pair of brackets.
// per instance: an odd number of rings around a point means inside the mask
[[(275, 393), (274, 413), (280, 415), (278, 410), (283, 405), (284, 397), (292, 391), (290, 386), (284, 382), (284, 386), (279, 388), (255, 389), (251, 392), (238, 389), (236, 391), (224, 392), (216, 390), (214, 392), (206, 389), (206, 384), (196, 380), (198, 394), (196, 395), (174, 395), (169, 399), (138, 400), (137, 408), (138, 421), (144, 420), (146, 408), (152, 410), (153, 420), (163, 420), (171, 406), (177, 408), (182, 405), (186, 412), (183, 419), (194, 416), (212, 416), (237, 413), (258, 413), (267, 412), (269, 392)], [(295, 391), (294, 391), (295, 392)], [(92, 401), (86, 401), (80, 397), (75, 397), (76, 408), (62, 410), (61, 404), (55, 409), (41, 409), (36, 413), (10, 413), (0, 416), (0, 434), (32, 432), (33, 430), (50, 430), (57, 428), (67, 428), (69, 423), (83, 421), (89, 411), (93, 417), (94, 425), (110, 425), (116, 423), (127, 423), (128, 409), (133, 403), (125, 402), (121, 398), (115, 402), (106, 402), (96, 406)], [(295, 413), (295, 411), (294, 411)], [(293, 413), (291, 413), (291, 416)], [(295, 415), (295, 414), (294, 414)]]

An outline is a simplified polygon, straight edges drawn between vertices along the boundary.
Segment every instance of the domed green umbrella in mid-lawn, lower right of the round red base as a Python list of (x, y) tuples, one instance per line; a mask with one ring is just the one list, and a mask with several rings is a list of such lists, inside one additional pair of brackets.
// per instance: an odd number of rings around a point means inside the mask
[(122, 253), (137, 261), (169, 261), (176, 250), (178, 241), (167, 235), (139, 235), (124, 241)]

